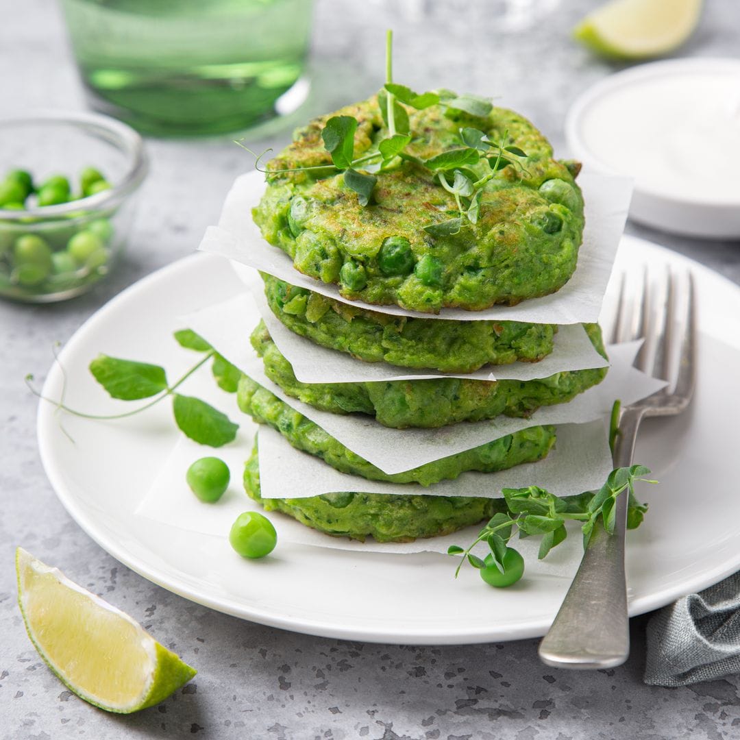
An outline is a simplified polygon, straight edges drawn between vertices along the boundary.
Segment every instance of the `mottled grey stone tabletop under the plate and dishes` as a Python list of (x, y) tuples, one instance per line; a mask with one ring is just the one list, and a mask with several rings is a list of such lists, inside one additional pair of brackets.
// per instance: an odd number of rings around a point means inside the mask
[[(515, 0), (511, 3), (516, 4)], [(522, 2), (522, 4), (525, 4)], [(557, 0), (542, 1), (557, 6)], [(380, 85), (382, 33), (397, 31), (397, 78), (417, 89), (446, 84), (530, 115), (562, 152), (568, 104), (615, 67), (568, 36), (591, 7), (562, 1), (505, 33), (500, 1), (319, 0), (314, 95), (328, 110)], [(0, 3), (2, 112), (80, 109), (81, 90), (58, 7), (48, 0)], [(526, 19), (525, 19), (525, 22)], [(707, 2), (685, 55), (737, 55), (734, 0)], [(285, 130), (255, 142), (286, 141)], [(468, 647), (399, 647), (320, 639), (243, 622), (168, 593), (112, 559), (55, 497), (36, 450), (36, 400), (27, 371), (50, 364), (113, 295), (189, 254), (218, 217), (223, 195), (250, 161), (230, 143), (149, 141), (152, 172), (126, 260), (92, 294), (57, 306), (0, 305), (0, 737), (239, 739), (634, 740), (740, 736), (738, 677), (677, 690), (641, 682), (645, 619), (632, 624), (627, 665), (598, 673), (543, 667), (536, 642)], [(740, 282), (740, 244), (700, 243), (629, 227)], [(16, 606), (13, 548), (22, 544), (124, 609), (199, 669), (195, 681), (137, 716), (109, 716), (64, 690), (41, 664)], [(481, 616), (485, 619), (485, 615)]]

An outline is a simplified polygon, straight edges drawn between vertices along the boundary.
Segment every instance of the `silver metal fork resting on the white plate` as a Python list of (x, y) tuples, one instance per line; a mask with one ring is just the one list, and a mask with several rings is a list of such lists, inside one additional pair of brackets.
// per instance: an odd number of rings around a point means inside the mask
[[(687, 275), (686, 306), (682, 336), (676, 334), (676, 299), (681, 297), (677, 277), (667, 271), (661, 292), (650, 289), (647, 269), (642, 296), (629, 300), (622, 275), (611, 343), (645, 337), (635, 366), (669, 381), (669, 385), (622, 410), (614, 447), (615, 468), (631, 465), (637, 429), (646, 416), (678, 414), (688, 406), (696, 380), (696, 312), (691, 275)], [(661, 305), (665, 305), (665, 308)], [(657, 309), (657, 310), (656, 310)], [(657, 314), (657, 317), (656, 317)], [(675, 343), (680, 340), (679, 367), (672, 371)], [(677, 377), (676, 377), (677, 375)], [(670, 383), (675, 377), (675, 384)], [(597, 669), (621, 665), (630, 650), (625, 584), (625, 525), (627, 494), (616, 501), (616, 527), (607, 534), (602, 525), (593, 529), (576, 577), (565, 595), (550, 630), (539, 645), (547, 665)]]

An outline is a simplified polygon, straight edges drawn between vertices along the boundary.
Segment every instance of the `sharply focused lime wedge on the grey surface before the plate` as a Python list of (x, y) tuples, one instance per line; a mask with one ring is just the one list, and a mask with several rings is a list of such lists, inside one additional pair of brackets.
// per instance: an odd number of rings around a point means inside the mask
[(195, 670), (130, 616), (16, 549), (18, 602), (38, 654), (70, 690), (109, 712), (166, 699)]

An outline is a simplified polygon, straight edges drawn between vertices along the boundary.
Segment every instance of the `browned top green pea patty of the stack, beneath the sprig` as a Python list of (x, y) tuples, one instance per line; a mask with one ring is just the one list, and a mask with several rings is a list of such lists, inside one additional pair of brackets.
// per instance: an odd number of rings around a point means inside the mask
[[(376, 151), (388, 136), (375, 97), (332, 115), (359, 121), (355, 158)], [(482, 186), (477, 223), (442, 236), (424, 226), (457, 216), (457, 203), (437, 175), (415, 161), (398, 159), (379, 172), (371, 202), (360, 205), (323, 147), (330, 117), (299, 129), (269, 163), (265, 195), (252, 212), (264, 238), (287, 252), (300, 272), (336, 283), (353, 300), (429, 313), (514, 305), (555, 292), (573, 274), (584, 225), (571, 173), (577, 168), (554, 160), (548, 141), (522, 116), (496, 107), (485, 117), (440, 105), (409, 110), (415, 138), (406, 151), (416, 158), (462, 147), (463, 127), (494, 141), (506, 133), (507, 143), (527, 155), (521, 167), (500, 169)], [(482, 178), (491, 167), (481, 160), (465, 172)]]

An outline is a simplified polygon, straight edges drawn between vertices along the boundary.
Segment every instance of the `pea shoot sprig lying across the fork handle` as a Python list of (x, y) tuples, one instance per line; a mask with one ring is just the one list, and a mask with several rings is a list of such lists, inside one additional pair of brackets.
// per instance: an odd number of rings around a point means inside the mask
[[(502, 575), (505, 574), (507, 553), (512, 550), (508, 542), (515, 532), (519, 533), (520, 539), (527, 536), (542, 536), (537, 555), (540, 560), (568, 536), (565, 522), (571, 520), (581, 522), (584, 548), (588, 545), (596, 525), (603, 525), (605, 531), (613, 534), (616, 525), (616, 499), (625, 491), (629, 497), (627, 526), (630, 529), (636, 528), (642, 522), (647, 505), (639, 503), (634, 497), (634, 484), (636, 481), (655, 483), (656, 481), (645, 478), (648, 474), (650, 470), (643, 465), (616, 468), (611, 471), (598, 491), (586, 491), (584, 494), (568, 497), (557, 497), (536, 485), (527, 488), (504, 488), (502, 494), (506, 511), (494, 514), (467, 548), (460, 545), (451, 545), (448, 548), (448, 555), (461, 557), (455, 577), (457, 578), (465, 562), (477, 570), (486, 569), (488, 573), (484, 575), (484, 580), (488, 582), (495, 580), (495, 573), (493, 579), (489, 579), (492, 569)], [(472, 552), (479, 542), (485, 542), (491, 551), (485, 560)]]

